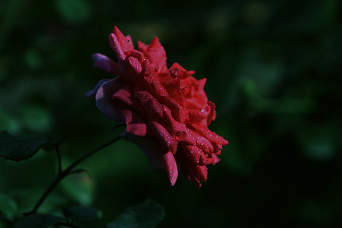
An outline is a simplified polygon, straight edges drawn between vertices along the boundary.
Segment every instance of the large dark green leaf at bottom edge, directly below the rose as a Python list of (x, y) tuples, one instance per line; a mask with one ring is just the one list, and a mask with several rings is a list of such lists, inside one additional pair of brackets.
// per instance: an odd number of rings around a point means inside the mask
[(164, 208), (151, 199), (125, 209), (107, 228), (151, 228), (163, 218)]

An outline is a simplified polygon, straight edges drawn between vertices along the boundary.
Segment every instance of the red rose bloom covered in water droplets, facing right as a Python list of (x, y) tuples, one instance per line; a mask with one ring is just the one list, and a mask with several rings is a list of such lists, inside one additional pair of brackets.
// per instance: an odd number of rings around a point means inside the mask
[(117, 77), (101, 80), (86, 95), (95, 96), (107, 118), (127, 125), (120, 136), (139, 146), (154, 172), (165, 170), (171, 186), (182, 170), (200, 188), (206, 165), (219, 162), (228, 143), (208, 128), (216, 112), (203, 90), (206, 79), (196, 80), (195, 71), (178, 63), (167, 68), (157, 37), (149, 45), (138, 41), (136, 50), (131, 37), (114, 27), (109, 44), (118, 62), (99, 53), (92, 57), (95, 66)]

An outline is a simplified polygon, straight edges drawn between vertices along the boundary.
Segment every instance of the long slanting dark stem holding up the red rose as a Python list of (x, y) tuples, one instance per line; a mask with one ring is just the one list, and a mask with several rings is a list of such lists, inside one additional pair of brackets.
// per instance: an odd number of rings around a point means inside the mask
[[(24, 213), (24, 215), (29, 215), (29, 214), (33, 214), (36, 213), (37, 209), (40, 207), (40, 205), (44, 202), (44, 200), (46, 199), (46, 197), (50, 194), (50, 192), (56, 187), (56, 185), (64, 178), (66, 177), (68, 174), (70, 174), (71, 170), (77, 166), (80, 162), (82, 162), (84, 159), (87, 159), (88, 157), (90, 157), (91, 155), (95, 154), (97, 151), (99, 151), (100, 149), (116, 142), (117, 140), (119, 140), (121, 137), (116, 137), (110, 141), (108, 141), (105, 144), (102, 144), (101, 146), (99, 146), (98, 148), (90, 151), (88, 154), (85, 154), (84, 156), (80, 157), (79, 159), (77, 159), (76, 161), (74, 161), (73, 163), (71, 163), (64, 171), (60, 172), (57, 174), (57, 177), (55, 178), (55, 180), (52, 182), (52, 184), (49, 186), (48, 189), (46, 189), (46, 191), (43, 193), (43, 195), (39, 198), (39, 200), (37, 201), (36, 205), (33, 207), (33, 209), (28, 212), (28, 213)], [(59, 152), (57, 153), (57, 157), (58, 157)], [(60, 164), (60, 163), (59, 163)]]

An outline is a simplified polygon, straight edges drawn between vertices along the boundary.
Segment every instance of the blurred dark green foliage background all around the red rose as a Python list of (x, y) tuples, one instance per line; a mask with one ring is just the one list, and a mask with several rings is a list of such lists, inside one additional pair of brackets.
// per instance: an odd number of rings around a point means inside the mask
[[(89, 205), (104, 216), (84, 227), (103, 227), (152, 198), (166, 212), (159, 227), (342, 225), (341, 1), (5, 0), (0, 16), (0, 130), (63, 137), (64, 167), (124, 129), (83, 97), (114, 77), (91, 59), (115, 59), (114, 25), (135, 44), (157, 36), (168, 66), (207, 78), (210, 129), (229, 141), (196, 190), (183, 174), (169, 187), (120, 140), (79, 166), (92, 178), (67, 177), (39, 212)], [(47, 150), (18, 164), (0, 158), (3, 210), (14, 220), (54, 178)]]

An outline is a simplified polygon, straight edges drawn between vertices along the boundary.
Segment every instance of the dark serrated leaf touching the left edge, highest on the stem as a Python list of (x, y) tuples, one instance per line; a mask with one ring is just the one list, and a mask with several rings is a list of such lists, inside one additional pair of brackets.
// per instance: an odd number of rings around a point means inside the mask
[(19, 137), (5, 130), (0, 132), (0, 156), (15, 162), (28, 160), (45, 143), (53, 143), (53, 141), (47, 137)]

